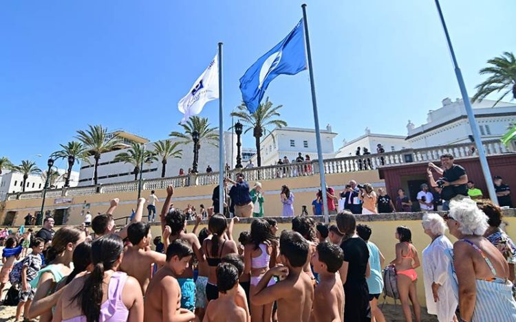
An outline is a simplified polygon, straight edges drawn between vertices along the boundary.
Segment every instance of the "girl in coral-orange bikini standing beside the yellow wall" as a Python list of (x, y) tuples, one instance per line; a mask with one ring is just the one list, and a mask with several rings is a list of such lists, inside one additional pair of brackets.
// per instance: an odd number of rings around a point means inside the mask
[(403, 314), (405, 314), (407, 322), (412, 322), (412, 313), (409, 306), (410, 299), (416, 321), (419, 322), (421, 321), (421, 308), (416, 289), (418, 274), (415, 270), (415, 268), (420, 266), (418, 250), (412, 244), (412, 233), (407, 227), (400, 226), (396, 228), (394, 235), (400, 242), (396, 244), (396, 258), (390, 264), (396, 266), (398, 273), (398, 292), (400, 293)]

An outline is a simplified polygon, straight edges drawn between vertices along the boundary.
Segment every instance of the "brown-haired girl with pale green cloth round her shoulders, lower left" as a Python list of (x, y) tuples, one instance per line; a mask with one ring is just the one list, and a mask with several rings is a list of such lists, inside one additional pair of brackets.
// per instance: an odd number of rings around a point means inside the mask
[[(30, 281), (32, 288), (37, 288), (32, 305), (41, 305), (39, 301), (52, 295), (56, 291), (57, 284), (64, 277), (72, 273), (71, 263), (74, 250), (78, 244), (86, 240), (85, 232), (80, 227), (63, 227), (56, 231), (52, 239), (52, 246), (47, 249), (45, 263), (47, 266), (39, 271), (38, 275)], [(52, 321), (52, 310), (41, 313), (41, 322)]]

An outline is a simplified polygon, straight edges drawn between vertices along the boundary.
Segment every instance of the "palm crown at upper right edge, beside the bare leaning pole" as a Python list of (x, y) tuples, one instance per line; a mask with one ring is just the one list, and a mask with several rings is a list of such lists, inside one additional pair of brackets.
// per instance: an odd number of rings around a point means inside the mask
[(487, 61), (489, 67), (480, 69), (480, 75), (491, 74), (488, 79), (475, 87), (477, 93), (471, 102), (482, 101), (491, 93), (503, 91), (502, 96), (495, 102), (493, 107), (503, 100), (508, 93), (513, 92), (513, 99), (516, 99), (516, 58), (513, 53), (505, 51), (501, 57), (495, 57)]

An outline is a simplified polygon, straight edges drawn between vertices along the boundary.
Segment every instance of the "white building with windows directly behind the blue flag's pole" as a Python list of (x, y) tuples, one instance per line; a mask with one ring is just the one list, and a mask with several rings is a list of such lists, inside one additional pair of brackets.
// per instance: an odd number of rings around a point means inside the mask
[[(333, 139), (337, 133), (332, 132), (332, 126), (328, 124), (325, 130), (321, 130), (321, 148), (324, 159), (335, 157)], [(275, 128), (260, 143), (261, 165), (274, 165), (278, 159), (287, 157), (290, 161), (297, 158), (299, 152), (310, 155), (310, 159), (317, 159), (317, 145), (315, 130), (310, 128)], [(252, 163), (257, 165), (257, 155), (252, 158)]]

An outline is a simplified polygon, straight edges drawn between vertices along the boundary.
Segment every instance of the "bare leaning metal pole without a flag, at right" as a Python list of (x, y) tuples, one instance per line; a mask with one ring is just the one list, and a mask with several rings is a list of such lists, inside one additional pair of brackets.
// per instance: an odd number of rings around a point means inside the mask
[(486, 187), (489, 192), (489, 197), (491, 201), (498, 205), (498, 198), (496, 196), (495, 186), (491, 181), (493, 177), (491, 176), (491, 170), (489, 170), (489, 165), (487, 163), (486, 152), (484, 151), (484, 146), (482, 146), (482, 138), (480, 137), (480, 131), (478, 129), (478, 124), (475, 119), (475, 113), (473, 113), (473, 108), (471, 108), (471, 102), (469, 101), (469, 95), (466, 91), (466, 85), (464, 84), (464, 79), (462, 78), (462, 72), (460, 71), (459, 65), (457, 63), (457, 58), (455, 58), (455, 51), (453, 51), (453, 46), (451, 45), (450, 35), (448, 34), (448, 28), (446, 23), (444, 22), (444, 16), (442, 15), (441, 6), (439, 4), (439, 0), (436, 0), (437, 10), (439, 12), (439, 17), (442, 23), (442, 29), (444, 30), (444, 36), (446, 36), (446, 41), (448, 43), (448, 49), (450, 51), (451, 60), (453, 62), (453, 68), (455, 69), (455, 76), (457, 77), (457, 82), (459, 83), (460, 93), (462, 94), (462, 101), (464, 102), (464, 107), (466, 108), (466, 113), (468, 114), (469, 126), (471, 126), (471, 133), (473, 134), (473, 139), (475, 139), (475, 146), (478, 151), (478, 159), (480, 160), (480, 165), (482, 165), (482, 173), (484, 174), (484, 178), (486, 179)]

